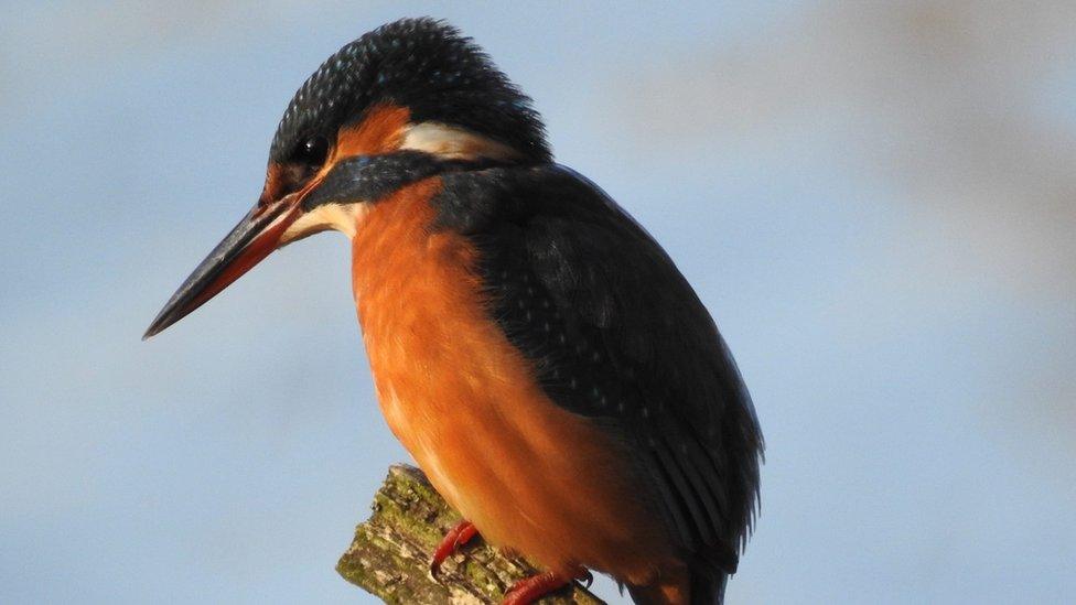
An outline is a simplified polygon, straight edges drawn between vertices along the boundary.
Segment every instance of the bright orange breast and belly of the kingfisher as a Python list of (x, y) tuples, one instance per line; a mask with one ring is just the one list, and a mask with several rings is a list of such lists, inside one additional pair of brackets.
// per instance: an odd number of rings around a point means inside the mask
[(429, 229), (437, 179), (379, 202), (354, 238), (354, 289), (381, 411), (483, 537), (547, 569), (632, 583), (671, 562), (630, 453), (550, 401), (484, 310), (475, 251)]

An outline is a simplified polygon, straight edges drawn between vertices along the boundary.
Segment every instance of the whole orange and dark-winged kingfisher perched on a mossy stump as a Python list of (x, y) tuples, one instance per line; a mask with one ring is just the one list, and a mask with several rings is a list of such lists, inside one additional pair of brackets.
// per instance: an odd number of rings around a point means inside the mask
[[(675, 199), (668, 201), (675, 203)], [(149, 338), (272, 251), (337, 230), (377, 401), (474, 534), (540, 572), (506, 604), (613, 577), (722, 603), (760, 509), (741, 372), (668, 253), (553, 160), (534, 102), (443, 20), (402, 19), (298, 89), (254, 207)]]

